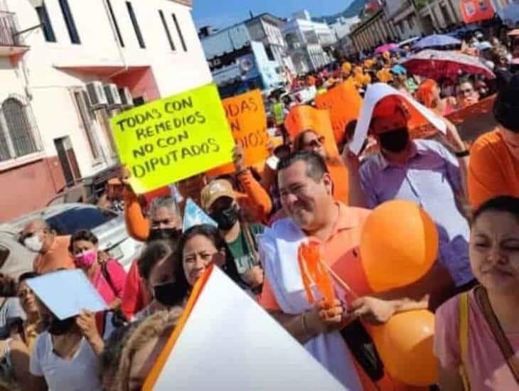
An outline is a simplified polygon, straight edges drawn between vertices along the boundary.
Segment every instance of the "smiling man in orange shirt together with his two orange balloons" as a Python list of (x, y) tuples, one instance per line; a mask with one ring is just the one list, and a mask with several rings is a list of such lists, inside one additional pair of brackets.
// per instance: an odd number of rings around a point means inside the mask
[(434, 264), (438, 235), (427, 213), (401, 201), (405, 204), (397, 208), (405, 215), (392, 220), (400, 221), (400, 234), (415, 245), (395, 249), (382, 242), (386, 257), (373, 259), (374, 249), (382, 247), (377, 239), (390, 235), (373, 237), (380, 234), (375, 228), (387, 223), (387, 211), (371, 213), (334, 200), (320, 156), (299, 152), (280, 161), (278, 185), (289, 217), (260, 239), (265, 270), (260, 304), (348, 390), (395, 389), (387, 378), (370, 379), (348, 352), (339, 331), (358, 318), (386, 323), (370, 326), (369, 332), (392, 377), (410, 385), (433, 384), (434, 317), (425, 311), (427, 300), (375, 297), (415, 282)]

